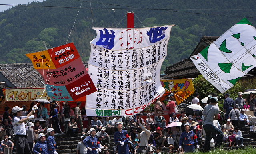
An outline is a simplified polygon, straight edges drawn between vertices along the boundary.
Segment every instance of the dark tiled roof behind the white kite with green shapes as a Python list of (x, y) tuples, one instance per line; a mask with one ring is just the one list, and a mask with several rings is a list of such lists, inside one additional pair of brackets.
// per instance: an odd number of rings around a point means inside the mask
[[(218, 39), (218, 36), (203, 36), (190, 56), (197, 55), (216, 39)], [(164, 73), (166, 75), (164, 75), (162, 79), (195, 78), (201, 74), (190, 58), (183, 59), (182, 61), (167, 67)]]

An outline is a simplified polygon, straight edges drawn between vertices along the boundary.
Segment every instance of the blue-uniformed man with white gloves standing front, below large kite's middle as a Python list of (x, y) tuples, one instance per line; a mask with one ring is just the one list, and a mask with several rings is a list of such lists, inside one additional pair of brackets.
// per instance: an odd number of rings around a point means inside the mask
[(114, 133), (114, 142), (118, 146), (118, 154), (129, 154), (129, 146), (127, 144), (129, 135), (126, 130), (122, 130), (122, 122), (118, 122), (116, 127), (118, 128), (118, 131)]

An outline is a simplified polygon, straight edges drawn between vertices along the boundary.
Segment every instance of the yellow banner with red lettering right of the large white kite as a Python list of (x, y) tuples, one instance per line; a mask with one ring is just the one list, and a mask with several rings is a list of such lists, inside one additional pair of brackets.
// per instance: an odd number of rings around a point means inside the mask
[(192, 79), (161, 80), (161, 84), (164, 88), (176, 94), (174, 97), (178, 105), (195, 92)]

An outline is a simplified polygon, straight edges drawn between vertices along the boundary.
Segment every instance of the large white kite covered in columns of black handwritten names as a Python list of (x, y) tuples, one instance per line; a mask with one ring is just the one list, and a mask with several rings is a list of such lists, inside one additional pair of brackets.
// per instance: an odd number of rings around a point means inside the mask
[(172, 26), (94, 28), (88, 72), (97, 92), (86, 96), (88, 116), (132, 116), (163, 95), (160, 69)]

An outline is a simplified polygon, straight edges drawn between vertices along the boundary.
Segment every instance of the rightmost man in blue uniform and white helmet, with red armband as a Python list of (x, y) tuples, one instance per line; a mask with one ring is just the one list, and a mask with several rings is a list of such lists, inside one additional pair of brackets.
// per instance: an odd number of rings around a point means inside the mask
[(196, 149), (199, 148), (198, 141), (197, 141), (197, 136), (196, 134), (190, 130), (190, 125), (187, 122), (184, 125), (185, 131), (182, 132), (180, 136), (180, 146), (179, 149), (181, 150), (181, 146), (184, 146), (184, 151), (185, 152), (194, 152), (195, 151), (195, 144), (196, 144)]

